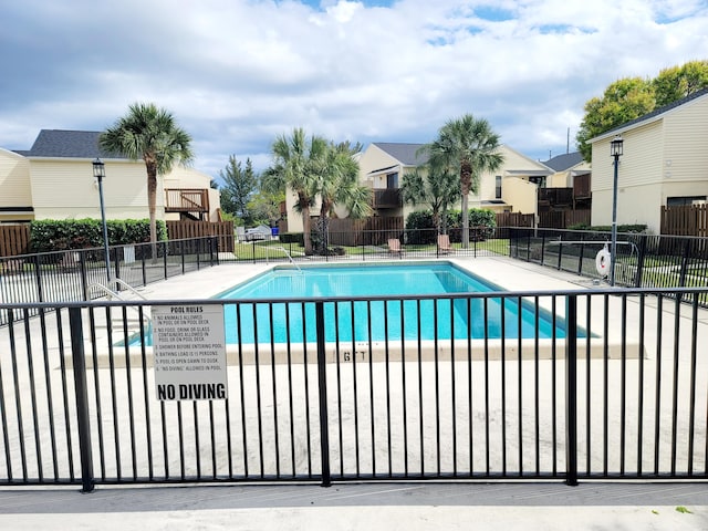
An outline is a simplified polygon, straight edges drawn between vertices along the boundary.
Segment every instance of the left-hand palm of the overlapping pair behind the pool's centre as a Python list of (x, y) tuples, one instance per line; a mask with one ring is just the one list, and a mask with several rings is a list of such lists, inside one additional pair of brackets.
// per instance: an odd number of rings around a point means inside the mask
[(266, 171), (270, 189), (290, 188), (298, 197), (295, 210), (302, 216), (305, 254), (312, 254), (310, 207), (317, 195), (319, 174), (327, 147), (324, 138), (315, 135), (308, 138), (302, 127), (295, 127), (290, 137), (275, 138), (271, 148), (273, 166)]

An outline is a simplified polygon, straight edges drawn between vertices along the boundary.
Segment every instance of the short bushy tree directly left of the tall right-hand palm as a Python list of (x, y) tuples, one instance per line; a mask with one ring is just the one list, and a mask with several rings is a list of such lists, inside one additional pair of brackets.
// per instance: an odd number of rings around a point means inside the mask
[(447, 167), (437, 168), (427, 163), (403, 176), (403, 200), (409, 205), (427, 205), (433, 211), (433, 223), (438, 233), (447, 232), (447, 211), (459, 197), (459, 178)]

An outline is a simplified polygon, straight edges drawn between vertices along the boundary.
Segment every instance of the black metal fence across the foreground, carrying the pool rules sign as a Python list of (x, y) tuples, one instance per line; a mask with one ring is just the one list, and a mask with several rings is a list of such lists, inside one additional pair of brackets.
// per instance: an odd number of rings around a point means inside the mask
[(706, 290), (678, 292), (190, 301), (235, 339), (228, 398), (180, 402), (143, 319), (174, 302), (0, 304), (0, 485), (707, 480)]

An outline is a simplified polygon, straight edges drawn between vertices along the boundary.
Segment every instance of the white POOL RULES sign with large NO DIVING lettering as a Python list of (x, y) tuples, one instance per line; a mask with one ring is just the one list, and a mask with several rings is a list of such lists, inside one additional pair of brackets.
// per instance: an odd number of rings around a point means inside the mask
[(153, 306), (152, 319), (157, 399), (227, 398), (223, 306)]

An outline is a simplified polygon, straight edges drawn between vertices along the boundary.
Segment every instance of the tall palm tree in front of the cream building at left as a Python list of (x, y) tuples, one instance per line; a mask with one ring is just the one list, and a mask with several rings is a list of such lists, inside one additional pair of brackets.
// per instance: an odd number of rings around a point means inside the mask
[(168, 174), (175, 164), (190, 164), (194, 159), (190, 143), (191, 137), (177, 126), (174, 116), (152, 103), (134, 103), (125, 116), (118, 118), (113, 127), (108, 127), (98, 137), (102, 149), (145, 162), (153, 243), (157, 242), (157, 176)]

